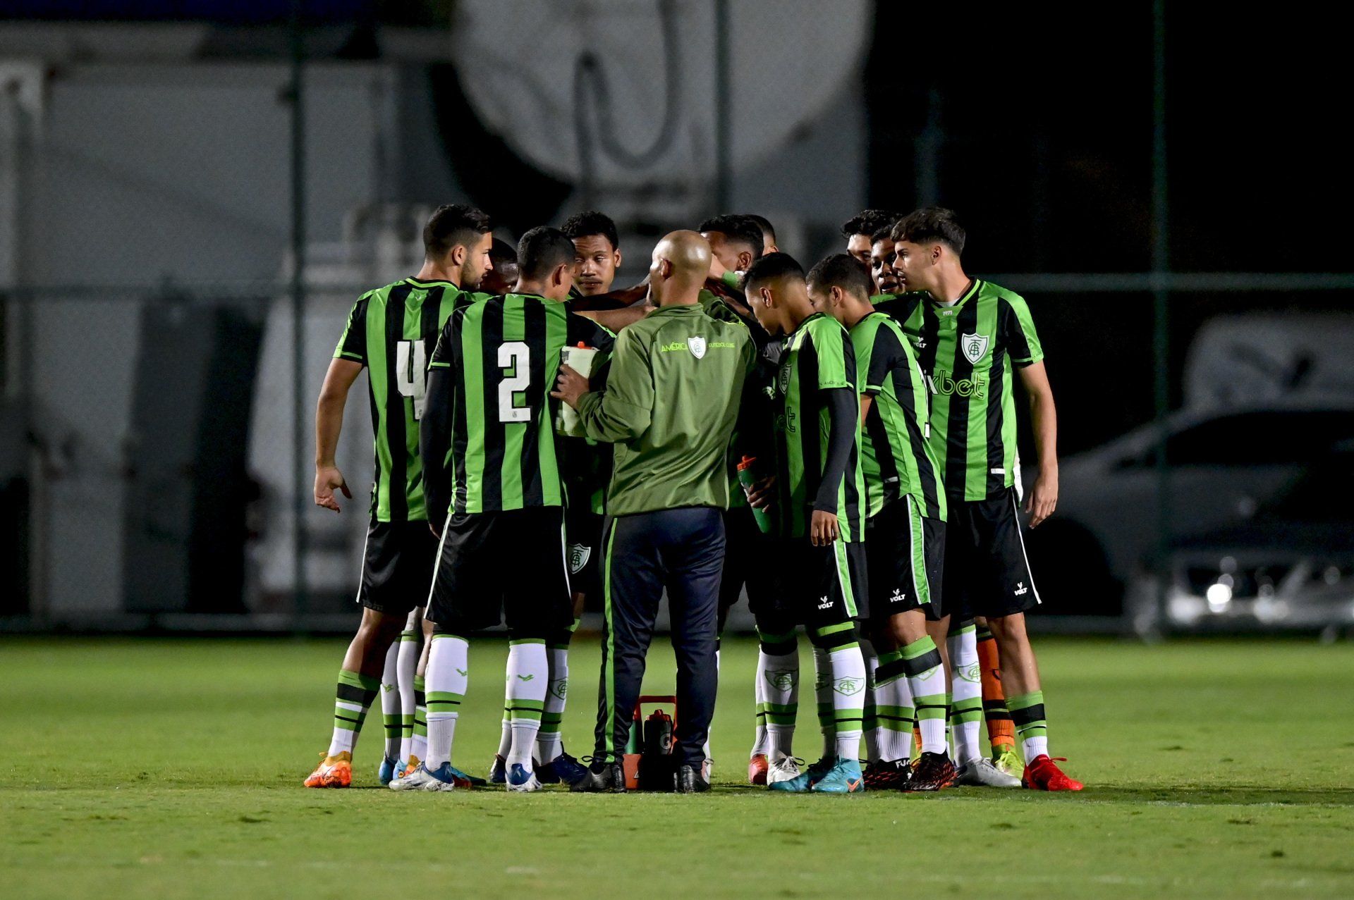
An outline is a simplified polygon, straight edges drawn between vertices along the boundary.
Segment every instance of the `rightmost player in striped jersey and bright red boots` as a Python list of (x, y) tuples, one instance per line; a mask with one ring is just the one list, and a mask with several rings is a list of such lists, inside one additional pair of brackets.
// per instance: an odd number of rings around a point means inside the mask
[[(982, 616), (997, 640), (1002, 682), (1010, 692), (1007, 705), (1025, 757), (1025, 786), (1080, 790), (1082, 784), (1063, 774), (1048, 755), (1044, 694), (1025, 632), (1025, 612), (1040, 601), (1020, 532), (1011, 374), (1020, 374), (1029, 395), (1040, 472), (1025, 498), (1025, 512), (1030, 513), (1030, 528), (1037, 528), (1057, 505), (1057, 418), (1044, 351), (1018, 294), (964, 272), (965, 233), (952, 211), (917, 210), (894, 226), (892, 237), (903, 286), (926, 292), (925, 298), (900, 298), (907, 306), (895, 315), (918, 346), (922, 369), (936, 390), (930, 429), (949, 501), (945, 593), (952, 621), (963, 627)], [(974, 669), (976, 662), (975, 652)], [(952, 665), (956, 671), (967, 667), (964, 660)], [(978, 716), (971, 724), (957, 723), (955, 743), (961, 762), (978, 755)]]

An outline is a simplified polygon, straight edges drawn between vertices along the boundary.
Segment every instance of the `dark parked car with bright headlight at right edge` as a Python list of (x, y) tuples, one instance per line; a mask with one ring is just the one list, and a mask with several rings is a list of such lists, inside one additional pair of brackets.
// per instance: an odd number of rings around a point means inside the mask
[(1315, 463), (1250, 522), (1173, 543), (1164, 604), (1129, 589), (1140, 633), (1354, 625), (1354, 443)]

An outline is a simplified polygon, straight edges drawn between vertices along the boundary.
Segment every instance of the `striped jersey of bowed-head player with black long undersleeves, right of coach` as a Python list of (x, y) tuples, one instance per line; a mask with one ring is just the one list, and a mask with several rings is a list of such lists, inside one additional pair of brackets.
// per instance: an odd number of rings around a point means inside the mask
[(773, 510), (783, 537), (808, 535), (814, 498), (827, 463), (831, 417), (827, 391), (848, 388), (856, 406), (856, 440), (837, 489), (842, 540), (865, 539), (865, 479), (860, 459), (860, 384), (856, 352), (841, 322), (815, 313), (785, 338), (776, 374), (776, 482)]

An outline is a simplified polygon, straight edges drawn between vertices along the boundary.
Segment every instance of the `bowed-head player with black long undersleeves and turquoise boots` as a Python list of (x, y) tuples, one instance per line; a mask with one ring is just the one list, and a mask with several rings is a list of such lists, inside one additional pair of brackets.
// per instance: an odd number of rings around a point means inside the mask
[(822, 759), (789, 780), (768, 775), (768, 786), (854, 793), (862, 788), (865, 712), (856, 620), (868, 614), (856, 356), (846, 329), (814, 310), (804, 271), (788, 254), (757, 260), (745, 287), (762, 328), (787, 336), (776, 376), (774, 501), (765, 486), (749, 499), (779, 518), (783, 591), (825, 656), (819, 675), (834, 728), (834, 746)]

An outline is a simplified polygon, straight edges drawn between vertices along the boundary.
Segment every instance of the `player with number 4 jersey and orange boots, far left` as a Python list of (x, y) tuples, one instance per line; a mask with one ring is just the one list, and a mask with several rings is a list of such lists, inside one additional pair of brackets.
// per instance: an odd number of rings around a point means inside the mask
[[(352, 750), (380, 689), (390, 646), (410, 612), (425, 602), (436, 543), (428, 535), (418, 420), (424, 411), (427, 360), (437, 333), (489, 271), (489, 217), (466, 206), (443, 206), (424, 226), (418, 275), (363, 294), (348, 315), (315, 406), (315, 505), (340, 512), (334, 491), (352, 491), (334, 462), (348, 390), (363, 368), (371, 382), (376, 474), (371, 525), (363, 549), (362, 624), (338, 671), (333, 736), (307, 788), (347, 788)], [(387, 735), (389, 738), (389, 735)], [(397, 761), (387, 746), (379, 777)]]

